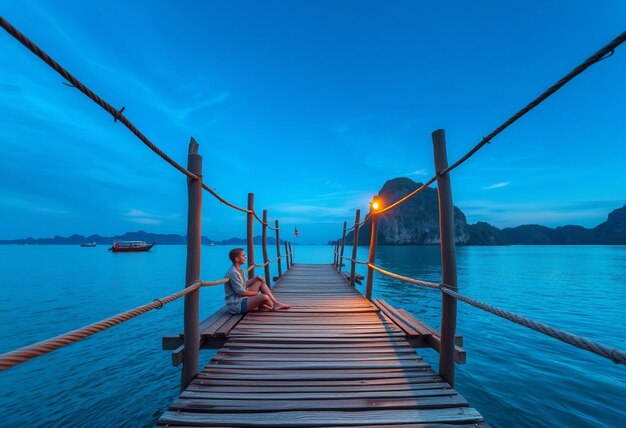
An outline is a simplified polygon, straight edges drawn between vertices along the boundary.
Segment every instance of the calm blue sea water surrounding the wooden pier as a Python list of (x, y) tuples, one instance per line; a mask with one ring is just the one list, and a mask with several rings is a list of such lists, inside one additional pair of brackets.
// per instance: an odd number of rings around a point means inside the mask
[[(222, 277), (228, 249), (203, 247), (203, 280)], [(377, 251), (376, 264), (386, 269), (439, 280), (437, 247)], [(332, 247), (295, 248), (296, 262), (332, 257)], [(367, 248), (358, 258), (367, 258)], [(626, 349), (626, 247), (461, 247), (457, 258), (462, 293)], [(0, 352), (169, 295), (184, 271), (183, 246), (138, 254), (0, 246)], [(201, 316), (222, 305), (222, 293), (202, 290)], [(439, 292), (376, 276), (374, 294), (439, 327)], [(161, 351), (161, 336), (182, 331), (182, 307), (181, 299), (0, 373), (4, 424), (152, 426), (178, 394), (180, 370)], [(457, 331), (467, 351), (457, 389), (493, 426), (626, 426), (626, 367), (462, 302)], [(201, 364), (213, 352), (202, 351)], [(438, 354), (418, 352), (436, 369)]]

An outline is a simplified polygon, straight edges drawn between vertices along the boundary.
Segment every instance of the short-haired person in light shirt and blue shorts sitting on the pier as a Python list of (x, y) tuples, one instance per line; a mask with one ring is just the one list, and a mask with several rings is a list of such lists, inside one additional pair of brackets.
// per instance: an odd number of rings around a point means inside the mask
[[(289, 309), (291, 305), (276, 300), (262, 276), (245, 280), (241, 266), (246, 262), (243, 248), (234, 248), (228, 253), (233, 263), (226, 271), (228, 282), (224, 283), (224, 300), (231, 314), (245, 314), (259, 308), (263, 311)], [(261, 294), (259, 294), (261, 292)]]

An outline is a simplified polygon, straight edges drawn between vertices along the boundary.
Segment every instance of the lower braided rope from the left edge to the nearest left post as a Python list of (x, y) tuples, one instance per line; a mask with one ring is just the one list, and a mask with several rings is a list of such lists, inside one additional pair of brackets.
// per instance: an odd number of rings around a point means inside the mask
[(126, 312), (122, 312), (121, 314), (117, 314), (115, 316), (109, 317), (102, 321), (98, 321), (77, 330), (70, 331), (60, 336), (53, 337), (52, 339), (37, 342), (20, 349), (16, 349), (15, 351), (2, 354), (0, 355), (0, 371), (6, 370), (25, 361), (39, 357), (40, 355), (47, 354), (64, 346), (70, 345), (74, 342), (78, 342), (79, 340), (99, 333), (115, 325), (121, 324), (131, 318), (135, 318), (141, 314), (151, 311), (152, 309), (161, 309), (164, 305), (186, 294), (189, 294), (192, 291), (196, 291), (201, 286), (202, 282), (196, 281), (189, 287), (186, 287), (185, 289), (170, 296), (161, 299), (155, 299), (145, 305), (128, 310)]

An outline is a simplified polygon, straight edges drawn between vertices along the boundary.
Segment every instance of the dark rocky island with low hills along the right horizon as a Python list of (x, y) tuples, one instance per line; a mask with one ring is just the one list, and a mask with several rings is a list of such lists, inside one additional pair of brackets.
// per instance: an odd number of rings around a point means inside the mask
[[(378, 194), (391, 204), (421, 186), (409, 178), (394, 178), (387, 181)], [(438, 245), (437, 190), (424, 189), (406, 203), (381, 214), (378, 224), (381, 245)], [(551, 228), (538, 224), (498, 229), (485, 222), (467, 224), (465, 214), (454, 207), (454, 229), (457, 245), (626, 245), (626, 205), (612, 211), (607, 221), (592, 229), (582, 226)], [(368, 222), (359, 231), (359, 245), (369, 245), (370, 234)], [(353, 240), (350, 232), (346, 242)]]

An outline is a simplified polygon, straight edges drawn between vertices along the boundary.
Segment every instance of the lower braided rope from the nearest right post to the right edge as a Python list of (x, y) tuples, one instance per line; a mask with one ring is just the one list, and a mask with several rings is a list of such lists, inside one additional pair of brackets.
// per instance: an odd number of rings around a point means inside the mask
[(448, 288), (448, 286), (445, 284), (440, 284), (439, 289), (442, 293), (445, 293), (448, 296), (454, 297), (455, 299), (461, 300), (467, 304), (482, 309), (483, 311), (490, 312), (516, 324), (523, 325), (524, 327), (528, 327), (530, 329), (543, 333), (546, 336), (553, 337), (557, 340), (560, 340), (561, 342), (565, 342), (569, 345), (576, 346), (577, 348), (584, 349), (585, 351), (593, 352), (594, 354), (600, 355), (601, 357), (608, 358), (614, 363), (626, 365), (626, 352), (624, 351), (604, 346), (584, 337), (576, 336), (575, 334), (559, 330), (558, 328), (554, 328), (547, 324), (533, 321), (529, 318), (517, 315), (513, 312), (505, 311), (495, 306), (487, 305), (486, 303), (482, 303), (469, 297), (463, 296), (462, 294), (459, 294), (456, 291)]

